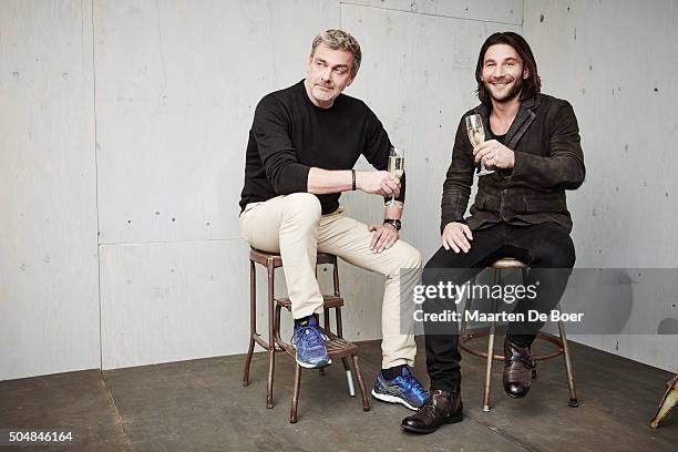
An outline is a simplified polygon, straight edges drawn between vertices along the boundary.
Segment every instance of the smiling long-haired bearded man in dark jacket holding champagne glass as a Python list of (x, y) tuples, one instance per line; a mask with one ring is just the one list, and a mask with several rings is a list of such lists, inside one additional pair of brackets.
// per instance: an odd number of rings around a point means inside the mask
[[(513, 257), (531, 268), (524, 284), (538, 287), (536, 296), (518, 301), (513, 314), (545, 312), (557, 305), (575, 263), (565, 191), (579, 187), (585, 176), (577, 120), (569, 103), (541, 93), (532, 50), (516, 33), (487, 38), (475, 80), (481, 104), (464, 114), (456, 130), (443, 185), (442, 247), (427, 264), (423, 285), (462, 285), (494, 261)], [(476, 146), (465, 125), (465, 116), (472, 114), (480, 114), (485, 131), (485, 141)], [(479, 177), (471, 215), (464, 218), (481, 161), (494, 173)], [(425, 312), (443, 309), (454, 309), (454, 302), (441, 295), (424, 302)], [(430, 433), (463, 419), (459, 335), (452, 323), (441, 331), (424, 322), (431, 391), (417, 414), (402, 421), (405, 430)], [(542, 326), (508, 323), (503, 381), (513, 398), (530, 390), (531, 346)]]

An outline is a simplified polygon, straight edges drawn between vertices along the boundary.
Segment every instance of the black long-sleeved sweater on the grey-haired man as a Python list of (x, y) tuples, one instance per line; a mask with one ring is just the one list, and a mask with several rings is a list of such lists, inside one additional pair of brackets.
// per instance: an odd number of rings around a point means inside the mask
[[(389, 136), (360, 100), (339, 94), (330, 109), (308, 99), (304, 81), (266, 95), (256, 107), (245, 158), (240, 209), (248, 203), (307, 192), (308, 172), (351, 170), (360, 154), (387, 170)], [(404, 175), (399, 199), (404, 199)], [(322, 214), (339, 207), (340, 193), (317, 195)]]

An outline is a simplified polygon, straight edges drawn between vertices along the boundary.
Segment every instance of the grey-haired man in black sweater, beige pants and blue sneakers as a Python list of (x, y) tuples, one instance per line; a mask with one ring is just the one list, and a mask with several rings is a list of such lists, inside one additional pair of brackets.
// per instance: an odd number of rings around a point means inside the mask
[[(353, 37), (327, 30), (312, 42), (306, 78), (261, 99), (247, 144), (240, 233), (254, 248), (282, 257), (295, 318), (292, 343), (305, 368), (331, 362), (318, 326), (322, 296), (315, 274), (317, 253), (386, 276), (382, 371), (372, 394), (417, 410), (427, 392), (408, 368), (417, 353), (408, 319), (421, 257), (399, 240), (404, 175), (400, 181), (386, 171), (389, 136), (362, 101), (341, 93), (356, 79), (360, 61)], [(360, 155), (377, 171), (353, 170)], [(398, 203), (387, 204), (382, 224), (368, 226), (339, 205), (341, 192), (357, 189), (394, 196)]]

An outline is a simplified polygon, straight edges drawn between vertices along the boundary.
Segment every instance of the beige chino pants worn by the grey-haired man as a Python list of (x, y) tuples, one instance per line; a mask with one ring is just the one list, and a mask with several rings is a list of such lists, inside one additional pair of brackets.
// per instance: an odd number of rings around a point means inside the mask
[(342, 208), (321, 215), (320, 202), (308, 193), (248, 204), (240, 215), (240, 233), (254, 248), (280, 253), (296, 319), (322, 312), (322, 296), (316, 279), (318, 251), (384, 275), (382, 367), (414, 364), (417, 345), (411, 295), (421, 277), (421, 256), (414, 247), (398, 240), (381, 254), (373, 254), (372, 233), (367, 225), (346, 216)]

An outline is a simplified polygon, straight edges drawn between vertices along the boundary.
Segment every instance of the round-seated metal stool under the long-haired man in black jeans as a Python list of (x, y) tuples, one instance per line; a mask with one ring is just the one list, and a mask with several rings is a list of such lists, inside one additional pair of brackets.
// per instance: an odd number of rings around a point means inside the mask
[[(528, 266), (526, 264), (523, 264), (522, 261), (517, 259), (513, 259), (513, 258), (500, 259), (490, 266), (490, 268), (494, 269), (494, 276), (493, 276), (492, 284), (493, 285), (499, 284), (501, 271), (503, 269), (520, 269), (522, 271), (523, 281), (524, 281), (526, 274), (527, 274), (527, 267)], [(471, 284), (472, 285), (475, 284), (475, 278), (473, 278)], [(473, 297), (469, 296), (465, 310), (470, 310), (472, 304), (473, 304)], [(497, 310), (496, 308), (497, 308), (497, 300), (496, 298), (493, 298), (492, 299), (492, 312), (496, 312)], [(556, 309), (561, 311), (559, 302), (556, 305)], [(485, 368), (485, 388), (483, 391), (483, 411), (485, 412), (490, 411), (490, 390), (491, 390), (491, 380), (492, 380), (493, 358), (497, 361), (504, 361), (505, 359), (504, 355), (494, 353), (495, 328), (496, 328), (496, 321), (492, 321), (490, 323), (489, 333), (487, 332), (472, 332), (470, 335), (466, 335), (466, 316), (465, 315), (462, 316), (461, 331), (460, 331), (460, 337), (459, 337), (460, 348), (471, 355), (474, 355), (481, 358), (485, 358), (487, 360), (487, 364)], [(569, 359), (569, 349), (567, 348), (567, 337), (565, 336), (565, 326), (563, 325), (562, 320), (558, 321), (558, 332), (561, 336), (559, 338), (556, 338), (552, 335), (546, 335), (544, 332), (537, 333), (536, 336), (537, 340), (549, 342), (554, 345), (557, 348), (557, 350), (552, 353), (534, 355), (533, 359), (535, 361), (543, 361), (543, 360), (555, 358), (559, 355), (563, 355), (565, 357), (565, 371), (567, 372), (567, 386), (569, 388), (569, 402), (567, 404), (572, 408), (576, 408), (579, 405), (579, 401), (577, 399), (577, 391), (574, 386), (574, 378), (572, 374), (572, 361)], [(471, 342), (474, 339), (479, 339), (483, 337), (487, 337), (487, 351), (477, 351), (469, 347), (469, 342)], [(534, 371), (536, 371), (536, 369)]]

